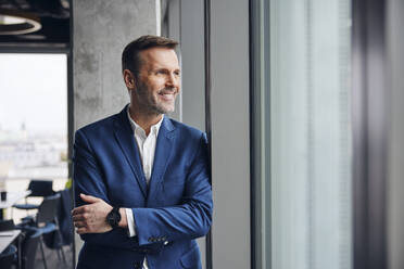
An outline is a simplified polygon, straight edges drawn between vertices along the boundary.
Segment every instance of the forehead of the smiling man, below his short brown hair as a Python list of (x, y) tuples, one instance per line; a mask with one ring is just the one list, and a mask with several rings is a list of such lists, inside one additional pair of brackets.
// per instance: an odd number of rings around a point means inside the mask
[(177, 53), (168, 48), (150, 48), (140, 53), (142, 66), (147, 68), (179, 69)]

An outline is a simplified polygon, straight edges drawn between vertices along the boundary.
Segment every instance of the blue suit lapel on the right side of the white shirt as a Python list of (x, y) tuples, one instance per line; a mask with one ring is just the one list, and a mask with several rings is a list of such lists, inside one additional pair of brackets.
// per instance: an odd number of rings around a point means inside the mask
[(171, 119), (165, 116), (162, 126), (160, 127), (155, 144), (153, 170), (149, 182), (148, 201), (154, 201), (155, 195), (159, 193), (160, 182), (163, 179), (172, 153), (174, 134), (174, 126)]

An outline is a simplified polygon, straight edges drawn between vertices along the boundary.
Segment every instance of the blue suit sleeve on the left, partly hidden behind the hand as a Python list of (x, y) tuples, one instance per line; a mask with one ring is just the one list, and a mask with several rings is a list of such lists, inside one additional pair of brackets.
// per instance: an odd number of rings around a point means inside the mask
[[(84, 131), (78, 130), (75, 134), (73, 156), (73, 178), (75, 190), (75, 207), (84, 205), (79, 194), (88, 194), (102, 198), (111, 204), (106, 195), (106, 187), (102, 169), (97, 163), (93, 151), (88, 143)], [(132, 241), (128, 240), (126, 229), (114, 229), (105, 233), (87, 233), (80, 238), (88, 243), (116, 247), (131, 247)]]

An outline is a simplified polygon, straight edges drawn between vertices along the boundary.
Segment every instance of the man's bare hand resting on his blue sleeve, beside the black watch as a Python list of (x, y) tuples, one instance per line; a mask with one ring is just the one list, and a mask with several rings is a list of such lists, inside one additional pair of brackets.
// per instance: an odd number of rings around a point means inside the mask
[(111, 226), (106, 222), (106, 215), (112, 210), (112, 206), (103, 200), (80, 194), (84, 202), (88, 203), (72, 210), (73, 222), (78, 234), (102, 233), (111, 231)]

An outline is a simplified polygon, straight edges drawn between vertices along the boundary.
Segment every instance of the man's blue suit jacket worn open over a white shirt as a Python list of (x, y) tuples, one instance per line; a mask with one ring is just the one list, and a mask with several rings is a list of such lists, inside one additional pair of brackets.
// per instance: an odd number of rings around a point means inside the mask
[(206, 144), (203, 132), (164, 117), (147, 185), (126, 107), (77, 130), (76, 206), (85, 193), (132, 208), (137, 234), (84, 234), (77, 268), (141, 268), (146, 256), (150, 269), (201, 268), (194, 239), (207, 233), (213, 208)]

